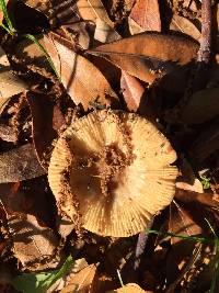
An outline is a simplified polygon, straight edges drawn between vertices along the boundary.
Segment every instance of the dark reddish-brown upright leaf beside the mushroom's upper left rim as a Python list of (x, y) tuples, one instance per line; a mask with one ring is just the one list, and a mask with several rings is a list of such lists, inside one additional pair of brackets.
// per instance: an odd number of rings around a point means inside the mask
[(48, 95), (28, 92), (27, 101), (32, 113), (33, 143), (38, 160), (47, 169), (51, 144), (58, 137), (58, 131), (66, 123), (59, 108)]

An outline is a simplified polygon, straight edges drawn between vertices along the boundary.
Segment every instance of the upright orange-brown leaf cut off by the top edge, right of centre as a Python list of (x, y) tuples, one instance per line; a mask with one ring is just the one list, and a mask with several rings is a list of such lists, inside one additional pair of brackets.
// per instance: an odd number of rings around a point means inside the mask
[(143, 31), (161, 31), (161, 20), (158, 0), (137, 0), (129, 18)]

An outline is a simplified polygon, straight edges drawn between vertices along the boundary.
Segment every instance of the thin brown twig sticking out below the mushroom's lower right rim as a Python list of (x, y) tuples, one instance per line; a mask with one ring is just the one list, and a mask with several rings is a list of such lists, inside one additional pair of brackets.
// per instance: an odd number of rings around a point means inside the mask
[[(150, 229), (152, 225), (153, 225), (153, 218), (149, 223), (148, 229)], [(135, 251), (134, 271), (137, 271), (139, 269), (141, 257), (143, 255), (146, 244), (148, 240), (148, 236), (149, 236), (149, 233), (147, 230), (139, 233), (136, 251)]]

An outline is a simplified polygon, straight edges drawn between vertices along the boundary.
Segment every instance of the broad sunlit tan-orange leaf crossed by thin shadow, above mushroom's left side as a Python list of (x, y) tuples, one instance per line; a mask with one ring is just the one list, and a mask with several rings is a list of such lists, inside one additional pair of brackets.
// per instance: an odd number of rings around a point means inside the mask
[(73, 102), (81, 103), (88, 110), (92, 102), (111, 105), (118, 101), (101, 71), (88, 59), (59, 42), (55, 37), (46, 35), (44, 37), (44, 45)]

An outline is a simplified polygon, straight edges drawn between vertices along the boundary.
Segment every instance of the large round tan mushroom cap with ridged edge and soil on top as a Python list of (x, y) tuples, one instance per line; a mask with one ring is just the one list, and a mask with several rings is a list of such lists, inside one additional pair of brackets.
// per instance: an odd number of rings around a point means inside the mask
[[(73, 221), (77, 199), (85, 229), (128, 237), (146, 229), (171, 203), (177, 169), (170, 164), (175, 159), (169, 140), (151, 122), (102, 110), (74, 122), (58, 139), (48, 180), (64, 217)], [(72, 195), (62, 187), (70, 160)]]

